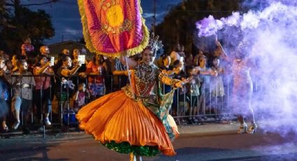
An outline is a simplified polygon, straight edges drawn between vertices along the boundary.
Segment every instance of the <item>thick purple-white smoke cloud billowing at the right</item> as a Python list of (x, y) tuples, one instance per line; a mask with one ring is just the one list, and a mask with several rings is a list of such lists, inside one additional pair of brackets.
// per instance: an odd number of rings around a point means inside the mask
[[(268, 6), (269, 4), (269, 6)], [(270, 132), (297, 132), (296, 2), (266, 1), (261, 11), (196, 22), (198, 37), (217, 34), (229, 55), (238, 46), (256, 64), (252, 69), (253, 106), (260, 127)]]

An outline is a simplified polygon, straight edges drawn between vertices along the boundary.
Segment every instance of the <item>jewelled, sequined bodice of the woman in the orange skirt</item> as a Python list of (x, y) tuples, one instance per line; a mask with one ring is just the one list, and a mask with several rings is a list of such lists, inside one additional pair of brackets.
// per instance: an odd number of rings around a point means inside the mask
[(149, 96), (159, 76), (159, 68), (152, 64), (140, 62), (135, 67), (136, 90), (140, 96)]

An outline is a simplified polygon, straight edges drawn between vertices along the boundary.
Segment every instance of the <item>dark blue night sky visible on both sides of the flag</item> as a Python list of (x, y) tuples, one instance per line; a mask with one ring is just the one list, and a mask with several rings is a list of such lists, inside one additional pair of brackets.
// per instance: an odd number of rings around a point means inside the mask
[[(26, 3), (43, 3), (48, 0), (21, 0)], [(157, 0), (157, 23), (161, 22), (164, 15), (170, 8), (180, 3), (182, 0)], [(153, 0), (141, 0), (143, 8), (143, 18), (146, 20), (147, 27), (152, 26)], [(45, 4), (42, 6), (30, 6), (31, 10), (42, 9), (52, 16), (52, 25), (55, 27), (55, 36), (50, 40), (45, 40), (47, 45), (62, 41), (78, 41), (82, 38), (82, 25), (80, 23), (80, 14), (76, 0), (59, 0), (59, 2)]]

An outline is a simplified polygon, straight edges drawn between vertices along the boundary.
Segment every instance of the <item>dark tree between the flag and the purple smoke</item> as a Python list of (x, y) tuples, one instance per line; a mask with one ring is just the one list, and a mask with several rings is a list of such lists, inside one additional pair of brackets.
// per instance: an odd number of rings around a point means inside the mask
[(193, 48), (195, 22), (213, 15), (222, 18), (231, 15), (240, 8), (238, 0), (184, 0), (172, 8), (164, 21), (157, 25), (156, 33), (164, 42), (166, 52), (171, 52), (177, 43), (185, 45), (187, 52), (196, 52)]

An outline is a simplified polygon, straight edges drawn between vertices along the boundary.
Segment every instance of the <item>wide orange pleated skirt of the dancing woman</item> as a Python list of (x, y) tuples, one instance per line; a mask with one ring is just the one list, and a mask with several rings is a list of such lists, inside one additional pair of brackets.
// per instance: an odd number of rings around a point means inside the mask
[[(80, 128), (106, 144), (128, 142), (131, 146), (157, 146), (164, 155), (175, 155), (161, 120), (119, 90), (84, 106), (76, 115)], [(171, 119), (171, 121), (174, 121)], [(178, 136), (178, 131), (175, 131)]]

